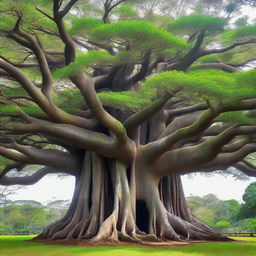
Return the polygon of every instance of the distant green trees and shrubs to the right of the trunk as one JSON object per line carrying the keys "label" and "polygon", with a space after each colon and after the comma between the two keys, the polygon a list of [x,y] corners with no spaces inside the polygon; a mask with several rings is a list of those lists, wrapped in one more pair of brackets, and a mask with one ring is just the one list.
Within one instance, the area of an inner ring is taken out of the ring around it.
{"label": "distant green trees and shrubs to the right of the trunk", "polygon": [[217,232],[256,232],[256,182],[245,189],[243,201],[220,200],[214,194],[187,197],[192,214]]}

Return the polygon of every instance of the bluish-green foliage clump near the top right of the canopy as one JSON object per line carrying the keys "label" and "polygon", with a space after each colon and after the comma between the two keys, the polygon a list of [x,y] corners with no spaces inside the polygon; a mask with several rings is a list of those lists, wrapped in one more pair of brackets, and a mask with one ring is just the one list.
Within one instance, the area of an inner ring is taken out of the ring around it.
{"label": "bluish-green foliage clump near the top right of the canopy", "polygon": [[226,25],[223,18],[191,14],[182,16],[168,24],[168,30],[176,33],[195,33],[199,31],[217,32],[222,31]]}

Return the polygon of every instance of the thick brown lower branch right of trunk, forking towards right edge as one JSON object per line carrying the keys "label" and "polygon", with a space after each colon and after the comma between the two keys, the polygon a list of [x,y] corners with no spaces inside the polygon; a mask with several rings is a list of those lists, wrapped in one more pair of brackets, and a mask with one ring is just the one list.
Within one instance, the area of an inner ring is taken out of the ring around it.
{"label": "thick brown lower branch right of trunk, forking towards right edge", "polygon": [[[254,144],[248,144],[248,146],[243,147],[235,153],[222,153],[219,158],[218,154],[221,153],[223,146],[229,143],[235,136],[250,135],[254,134],[255,131],[256,126],[230,127],[199,145],[169,151],[158,159],[159,168],[157,175],[167,176],[170,173],[186,172],[194,168],[201,169],[202,166],[208,166],[210,161],[216,161],[215,163],[217,164],[217,160],[222,161],[224,158],[223,163],[225,161],[240,161],[246,155],[256,150]],[[217,158],[214,159],[216,156]],[[180,159],[184,160],[180,161]],[[210,168],[210,165],[208,167]]]}

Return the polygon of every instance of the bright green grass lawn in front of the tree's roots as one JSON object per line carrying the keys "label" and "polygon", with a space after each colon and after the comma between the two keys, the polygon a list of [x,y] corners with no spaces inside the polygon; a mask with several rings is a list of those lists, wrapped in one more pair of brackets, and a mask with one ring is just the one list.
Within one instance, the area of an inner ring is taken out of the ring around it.
{"label": "bright green grass lawn in front of the tree's roots", "polygon": [[57,246],[26,241],[32,237],[0,236],[0,256],[256,256],[256,237],[165,248]]}

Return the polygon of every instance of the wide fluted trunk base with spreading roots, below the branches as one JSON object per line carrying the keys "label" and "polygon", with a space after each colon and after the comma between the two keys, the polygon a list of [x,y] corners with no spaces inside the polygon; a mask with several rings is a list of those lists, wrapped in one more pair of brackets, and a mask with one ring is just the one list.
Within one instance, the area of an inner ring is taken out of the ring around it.
{"label": "wide fluted trunk base with spreading roots, below the branches", "polygon": [[[145,192],[144,210],[148,215],[145,230],[139,229],[139,220],[136,223],[136,182]],[[134,166],[127,167],[118,160],[107,161],[87,152],[66,215],[35,239],[144,244],[173,240],[229,240],[215,234],[190,214],[179,175],[165,177],[159,184],[144,174],[143,179],[136,182]]]}

